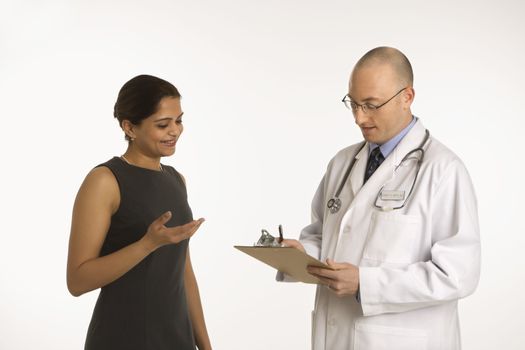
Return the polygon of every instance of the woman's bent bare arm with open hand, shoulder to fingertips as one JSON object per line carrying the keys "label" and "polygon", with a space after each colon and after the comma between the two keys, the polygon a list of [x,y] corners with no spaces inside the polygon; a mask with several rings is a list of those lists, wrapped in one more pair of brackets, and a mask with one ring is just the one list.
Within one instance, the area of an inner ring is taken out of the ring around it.
{"label": "woman's bent bare arm with open hand, shoulder to fingertips", "polygon": [[74,296],[103,287],[131,270],[158,247],[192,236],[202,219],[167,228],[167,212],[153,221],[139,241],[100,257],[111,216],[120,204],[118,183],[106,167],[92,170],[80,187],[71,223],[67,286]]}

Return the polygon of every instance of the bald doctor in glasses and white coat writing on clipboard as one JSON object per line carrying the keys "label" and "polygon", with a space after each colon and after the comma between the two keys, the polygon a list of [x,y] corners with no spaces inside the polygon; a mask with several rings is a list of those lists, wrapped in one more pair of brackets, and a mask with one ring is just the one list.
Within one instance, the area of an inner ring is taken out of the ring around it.
{"label": "bald doctor in glasses and white coat writing on clipboard", "polygon": [[312,223],[284,240],[330,266],[309,267],[315,350],[461,347],[458,299],[480,273],[476,198],[461,160],[412,115],[414,96],[397,49],[357,62],[343,102],[366,142],[330,161]]}

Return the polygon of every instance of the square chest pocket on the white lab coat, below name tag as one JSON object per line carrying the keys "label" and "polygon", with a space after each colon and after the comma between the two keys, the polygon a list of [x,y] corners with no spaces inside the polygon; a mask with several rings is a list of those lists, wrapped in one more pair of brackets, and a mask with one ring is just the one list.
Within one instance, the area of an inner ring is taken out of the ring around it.
{"label": "square chest pocket on the white lab coat, below name tag", "polygon": [[416,257],[414,246],[421,233],[421,218],[395,211],[374,211],[368,228],[363,259],[407,264]]}

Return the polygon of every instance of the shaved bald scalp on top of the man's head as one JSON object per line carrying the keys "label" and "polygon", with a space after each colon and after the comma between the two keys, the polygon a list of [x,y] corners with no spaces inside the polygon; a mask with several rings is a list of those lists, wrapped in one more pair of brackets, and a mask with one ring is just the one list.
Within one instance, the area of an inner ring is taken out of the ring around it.
{"label": "shaved bald scalp on top of the man's head", "polygon": [[410,61],[401,51],[393,47],[381,46],[368,51],[357,61],[354,72],[361,68],[385,64],[392,68],[402,86],[413,86],[414,73]]}

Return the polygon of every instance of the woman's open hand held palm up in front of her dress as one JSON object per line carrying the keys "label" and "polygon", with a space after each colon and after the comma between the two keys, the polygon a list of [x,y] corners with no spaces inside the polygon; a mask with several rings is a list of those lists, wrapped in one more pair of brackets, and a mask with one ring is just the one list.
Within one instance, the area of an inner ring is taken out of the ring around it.
{"label": "woman's open hand held palm up in front of her dress", "polygon": [[171,219],[171,212],[167,211],[153,221],[148,231],[142,237],[141,241],[146,245],[148,250],[154,251],[167,244],[179,243],[187,238],[193,236],[204,222],[204,218],[193,220],[187,224],[166,227],[164,224]]}

